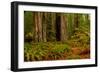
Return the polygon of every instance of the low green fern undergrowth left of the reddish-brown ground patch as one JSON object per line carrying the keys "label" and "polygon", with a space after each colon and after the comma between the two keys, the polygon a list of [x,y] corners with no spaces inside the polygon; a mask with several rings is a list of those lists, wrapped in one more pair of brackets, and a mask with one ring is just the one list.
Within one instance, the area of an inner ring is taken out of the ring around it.
{"label": "low green fern undergrowth left of the reddish-brown ground patch", "polygon": [[67,44],[61,44],[57,42],[48,43],[25,43],[24,46],[24,59],[25,61],[40,61],[60,59],[63,53],[70,51],[70,47]]}

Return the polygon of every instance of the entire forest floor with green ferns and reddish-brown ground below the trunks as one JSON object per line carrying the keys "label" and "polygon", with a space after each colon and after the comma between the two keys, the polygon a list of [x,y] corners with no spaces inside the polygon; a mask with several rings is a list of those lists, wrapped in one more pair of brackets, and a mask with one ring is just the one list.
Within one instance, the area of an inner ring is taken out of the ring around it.
{"label": "entire forest floor with green ferns and reddish-brown ground below the trunks", "polygon": [[89,59],[90,49],[69,47],[66,43],[26,43],[24,61]]}

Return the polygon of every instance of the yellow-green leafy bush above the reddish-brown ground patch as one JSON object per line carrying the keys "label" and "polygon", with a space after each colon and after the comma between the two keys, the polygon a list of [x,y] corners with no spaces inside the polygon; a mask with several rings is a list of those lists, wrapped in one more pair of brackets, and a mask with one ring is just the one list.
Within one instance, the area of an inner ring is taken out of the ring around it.
{"label": "yellow-green leafy bush above the reddish-brown ground patch", "polygon": [[81,29],[76,29],[76,33],[71,36],[69,43],[72,47],[82,47],[82,48],[90,48],[90,35],[89,33],[85,33]]}

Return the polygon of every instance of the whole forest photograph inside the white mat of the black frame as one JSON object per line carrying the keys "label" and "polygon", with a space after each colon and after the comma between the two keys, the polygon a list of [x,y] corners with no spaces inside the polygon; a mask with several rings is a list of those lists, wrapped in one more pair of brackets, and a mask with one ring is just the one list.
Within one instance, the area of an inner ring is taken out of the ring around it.
{"label": "whole forest photograph inside the white mat of the black frame", "polygon": [[90,15],[24,11],[24,61],[90,58]]}

